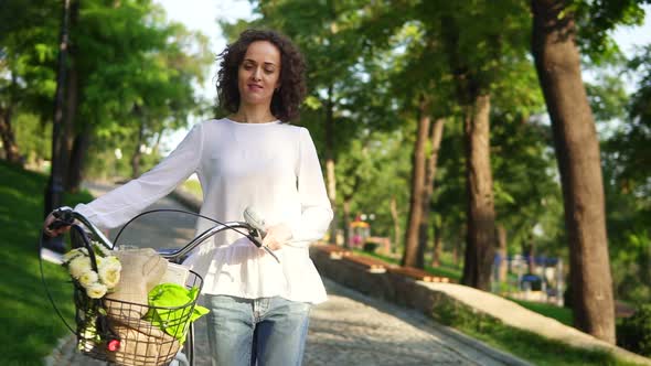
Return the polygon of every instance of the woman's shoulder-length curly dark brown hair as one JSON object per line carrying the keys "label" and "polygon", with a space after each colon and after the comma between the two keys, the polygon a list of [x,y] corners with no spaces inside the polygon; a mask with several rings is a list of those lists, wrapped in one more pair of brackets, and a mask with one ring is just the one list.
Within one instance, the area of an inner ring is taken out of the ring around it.
{"label": "woman's shoulder-length curly dark brown hair", "polygon": [[280,87],[271,97],[271,114],[288,122],[299,115],[299,107],[306,96],[303,56],[285,35],[271,30],[249,29],[218,55],[217,95],[220,106],[230,112],[239,108],[237,69],[244,60],[248,45],[256,41],[268,41],[280,51]]}

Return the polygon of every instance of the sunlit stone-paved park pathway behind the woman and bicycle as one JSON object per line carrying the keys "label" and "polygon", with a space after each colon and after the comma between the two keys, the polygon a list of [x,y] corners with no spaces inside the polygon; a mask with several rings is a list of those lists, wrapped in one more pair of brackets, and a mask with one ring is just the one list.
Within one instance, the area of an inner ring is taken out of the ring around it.
{"label": "sunlit stone-paved park pathway behind the woman and bicycle", "polygon": [[[105,186],[89,184],[93,194]],[[150,208],[183,209],[174,200],[163,198]],[[153,216],[152,216],[153,217]],[[192,219],[143,222],[152,247],[169,247],[169,238],[192,235]],[[116,232],[110,233],[114,237]],[[136,243],[137,237],[127,238]],[[120,240],[121,241],[121,240]],[[179,239],[182,243],[183,239]],[[142,243],[139,240],[139,243]],[[458,332],[444,327],[417,311],[367,298],[324,279],[329,300],[312,308],[305,365],[524,365]],[[196,323],[198,366],[211,365],[207,357],[205,322]],[[105,365],[76,353],[74,337],[63,338],[46,358],[47,365]]]}

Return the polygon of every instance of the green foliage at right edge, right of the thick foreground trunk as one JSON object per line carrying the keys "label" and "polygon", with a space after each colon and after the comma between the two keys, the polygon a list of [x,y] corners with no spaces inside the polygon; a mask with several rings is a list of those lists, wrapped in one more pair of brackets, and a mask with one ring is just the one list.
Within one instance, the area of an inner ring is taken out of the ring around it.
{"label": "green foliage at right edge, right of the thick foreground trunk", "polygon": [[647,169],[651,164],[650,55],[647,46],[629,63],[630,72],[641,76],[637,92],[612,104],[619,105],[612,109],[619,110],[620,122],[601,142],[615,292],[638,304],[651,301],[651,175]]}

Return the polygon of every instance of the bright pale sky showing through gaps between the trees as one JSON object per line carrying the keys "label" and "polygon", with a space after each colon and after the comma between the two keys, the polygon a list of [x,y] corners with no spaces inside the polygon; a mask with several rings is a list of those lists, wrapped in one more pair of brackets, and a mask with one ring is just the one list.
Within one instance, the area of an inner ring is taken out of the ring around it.
{"label": "bright pale sky showing through gaps between the trees", "polygon": [[[154,0],[160,3],[168,19],[180,22],[190,30],[201,31],[210,37],[211,50],[215,56],[226,46],[226,40],[222,35],[217,20],[235,22],[238,19],[252,19],[252,6],[248,0]],[[641,26],[618,28],[612,36],[625,54],[630,55],[636,46],[651,43],[651,6],[644,6],[647,19]],[[216,63],[213,64],[210,76],[204,85],[199,87],[198,93],[209,100],[215,100],[216,90],[214,76],[216,75]],[[584,75],[585,79],[593,76]],[[193,121],[196,122],[196,121]],[[177,146],[185,136],[186,130],[179,130],[170,136],[163,144],[169,150]]]}

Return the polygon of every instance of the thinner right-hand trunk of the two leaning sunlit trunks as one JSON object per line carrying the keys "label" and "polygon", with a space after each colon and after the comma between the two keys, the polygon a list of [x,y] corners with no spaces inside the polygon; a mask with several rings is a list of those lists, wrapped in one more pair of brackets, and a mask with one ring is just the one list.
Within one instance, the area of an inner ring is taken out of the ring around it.
{"label": "thinner right-hand trunk of the two leaning sunlit trunks", "polygon": [[436,177],[436,166],[438,161],[438,152],[440,150],[440,141],[444,136],[445,119],[438,118],[431,127],[429,136],[429,157],[425,168],[425,187],[423,192],[423,215],[420,216],[420,225],[418,228],[418,262],[425,263],[425,249],[427,248],[427,232],[429,228],[429,212],[431,204],[431,194],[434,193],[434,180]]}

